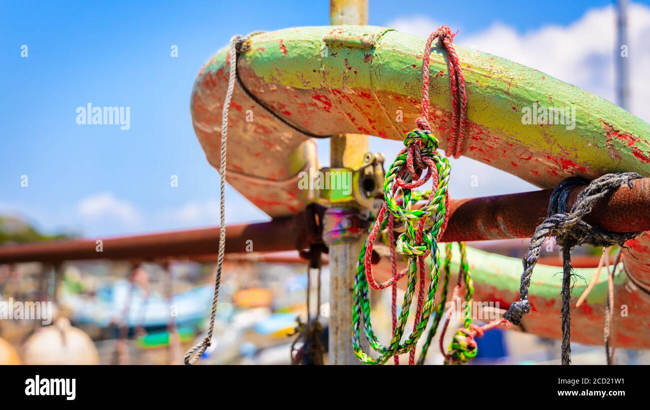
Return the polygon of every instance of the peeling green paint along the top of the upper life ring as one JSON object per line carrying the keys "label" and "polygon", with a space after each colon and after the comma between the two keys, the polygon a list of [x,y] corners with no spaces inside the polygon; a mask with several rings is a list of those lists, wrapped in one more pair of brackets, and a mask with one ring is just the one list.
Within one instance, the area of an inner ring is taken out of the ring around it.
{"label": "peeling green paint along the top of the upper life ring", "polygon": [[[240,64],[277,86],[386,91],[417,103],[424,43],[424,38],[385,27],[299,27],[255,36]],[[469,120],[515,148],[546,152],[545,158],[535,158],[534,169],[593,176],[636,171],[650,176],[650,125],[638,117],[535,69],[461,45],[456,51],[465,73]],[[220,51],[206,68],[219,69],[225,56],[225,50]],[[438,47],[430,70],[432,105],[450,110],[446,56]],[[575,129],[523,124],[521,110],[533,104],[575,108]],[[521,168],[506,171],[541,187],[556,184],[557,178],[523,175]]]}

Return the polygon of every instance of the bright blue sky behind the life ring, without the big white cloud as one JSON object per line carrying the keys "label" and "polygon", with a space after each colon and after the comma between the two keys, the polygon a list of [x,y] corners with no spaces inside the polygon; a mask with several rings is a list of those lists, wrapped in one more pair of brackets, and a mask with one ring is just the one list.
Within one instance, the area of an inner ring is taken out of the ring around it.
{"label": "bright blue sky behind the life ring, without the big white cloud", "polygon": [[[205,160],[189,113],[198,70],[233,34],[327,25],[328,3],[0,2],[0,213],[21,215],[47,232],[88,236],[216,224],[218,173]],[[460,30],[459,42],[503,25],[526,38],[545,27],[569,27],[611,3],[370,0],[370,24],[444,23]],[[21,45],[28,47],[27,58]],[[177,58],[170,56],[172,45]],[[131,107],[131,127],[77,125],[75,110],[87,102]],[[390,144],[376,146],[395,152],[398,144]],[[478,172],[471,171],[477,163],[460,163],[465,171],[458,178]],[[22,175],[27,187],[21,187]],[[171,175],[178,176],[178,187],[170,187]],[[498,175],[495,180],[500,184],[473,195],[530,187]],[[233,189],[227,193],[229,221],[265,219]]]}

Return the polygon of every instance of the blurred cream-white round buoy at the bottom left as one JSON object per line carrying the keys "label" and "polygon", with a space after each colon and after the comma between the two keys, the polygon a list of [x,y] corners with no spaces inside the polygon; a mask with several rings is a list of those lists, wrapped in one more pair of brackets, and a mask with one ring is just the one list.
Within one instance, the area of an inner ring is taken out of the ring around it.
{"label": "blurred cream-white round buoy at the bottom left", "polygon": [[98,365],[99,353],[83,330],[61,317],[39,328],[23,345],[26,365]]}

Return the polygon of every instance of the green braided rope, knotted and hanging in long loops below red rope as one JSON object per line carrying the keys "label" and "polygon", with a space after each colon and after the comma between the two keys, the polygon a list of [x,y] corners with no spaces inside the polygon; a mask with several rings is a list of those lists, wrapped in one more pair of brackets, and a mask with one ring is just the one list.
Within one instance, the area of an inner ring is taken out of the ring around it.
{"label": "green braided rope, knotted and hanging in long loops below red rope", "polygon": [[[404,234],[398,238],[396,250],[401,254],[409,256],[409,267],[407,274],[406,294],[404,295],[404,302],[402,302],[402,310],[397,319],[397,325],[393,338],[389,346],[381,344],[374,332],[372,331],[372,324],[370,322],[370,302],[368,298],[368,282],[366,279],[364,256],[367,249],[367,243],[361,248],[359,259],[357,261],[356,276],[354,281],[354,309],[352,311],[352,344],[354,352],[363,363],[380,365],[385,363],[388,359],[396,354],[404,354],[409,352],[420,336],[424,332],[428,319],[434,306],[435,292],[437,291],[438,278],[439,278],[439,257],[437,249],[437,236],[440,233],[440,228],[445,219],[447,206],[445,198],[447,196],[447,187],[450,174],[450,167],[447,158],[441,156],[437,149],[437,139],[430,135],[429,132],[422,132],[421,130],[414,130],[406,134],[404,145],[409,147],[415,141],[422,141],[421,154],[432,158],[434,165],[437,169],[437,188],[432,199],[422,207],[420,210],[411,210],[411,204],[414,203],[411,189],[399,188],[395,186],[396,177],[398,173],[406,165],[408,152],[402,151],[389,168],[385,182],[383,185],[384,199],[387,208],[393,215],[404,221]],[[407,175],[407,182],[411,180]],[[397,191],[402,191],[404,199],[404,208],[398,205],[396,195]],[[419,194],[415,197],[420,197]],[[423,244],[413,245],[416,236],[416,228],[413,226],[417,221],[422,218],[432,217],[434,219],[431,230],[424,230],[422,233]],[[383,224],[382,224],[383,228]],[[370,227],[372,230],[372,226]],[[417,257],[430,252],[430,266],[429,266],[429,285],[426,299],[422,305],[420,321],[415,327],[413,332],[400,343],[404,336],[404,329],[408,320],[409,308],[415,294],[415,285],[417,283]],[[380,354],[380,357],[373,359],[361,348],[361,319],[363,318],[363,328],[365,337],[368,339],[370,347]]]}

